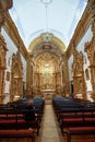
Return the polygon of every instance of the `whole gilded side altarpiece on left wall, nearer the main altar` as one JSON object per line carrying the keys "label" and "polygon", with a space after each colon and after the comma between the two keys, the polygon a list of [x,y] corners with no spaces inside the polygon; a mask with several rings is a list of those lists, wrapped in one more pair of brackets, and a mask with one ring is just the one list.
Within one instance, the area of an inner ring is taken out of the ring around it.
{"label": "whole gilded side altarpiece on left wall, nearer the main altar", "polygon": [[20,50],[12,56],[10,94],[11,99],[23,96],[23,66]]}

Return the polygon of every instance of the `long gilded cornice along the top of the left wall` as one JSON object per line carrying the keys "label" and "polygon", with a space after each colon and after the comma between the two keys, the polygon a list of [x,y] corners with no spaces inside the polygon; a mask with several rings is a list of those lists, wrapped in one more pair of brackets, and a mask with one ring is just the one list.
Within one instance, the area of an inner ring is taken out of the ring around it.
{"label": "long gilded cornice along the top of the left wall", "polygon": [[19,34],[19,31],[17,31],[14,22],[12,21],[10,14],[5,19],[4,27],[5,27],[7,33],[11,37],[11,39],[14,42],[14,44],[16,45],[16,47],[20,48],[20,51],[22,52],[22,55],[26,59],[26,57],[27,57],[26,47],[25,47],[25,45],[24,45],[24,43],[23,43],[20,34]]}

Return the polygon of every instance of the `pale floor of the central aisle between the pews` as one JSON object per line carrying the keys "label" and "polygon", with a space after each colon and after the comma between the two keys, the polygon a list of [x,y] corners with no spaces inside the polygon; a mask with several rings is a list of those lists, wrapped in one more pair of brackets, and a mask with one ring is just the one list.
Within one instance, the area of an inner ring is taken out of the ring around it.
{"label": "pale floor of the central aisle between the pews", "polygon": [[41,142],[60,142],[51,105],[45,105]]}

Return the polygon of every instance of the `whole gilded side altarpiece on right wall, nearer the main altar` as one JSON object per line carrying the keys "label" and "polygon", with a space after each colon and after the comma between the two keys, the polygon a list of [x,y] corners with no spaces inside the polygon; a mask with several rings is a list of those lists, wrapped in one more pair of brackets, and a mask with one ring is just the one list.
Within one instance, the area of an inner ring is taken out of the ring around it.
{"label": "whole gilded side altarpiece on right wall, nearer the main altar", "polygon": [[73,64],[72,64],[72,71],[73,71],[73,95],[74,97],[78,96],[78,94],[81,94],[82,97],[85,99],[85,80],[84,80],[84,71],[83,71],[83,54],[80,51],[76,51],[74,49],[73,51]]}

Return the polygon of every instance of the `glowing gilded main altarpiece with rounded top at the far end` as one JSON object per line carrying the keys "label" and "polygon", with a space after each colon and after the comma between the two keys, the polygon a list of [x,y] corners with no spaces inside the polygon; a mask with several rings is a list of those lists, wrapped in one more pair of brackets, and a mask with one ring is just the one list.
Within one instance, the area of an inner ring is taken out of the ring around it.
{"label": "glowing gilded main altarpiece with rounded top at the far end", "polygon": [[54,91],[58,93],[61,90],[61,73],[59,70],[57,57],[50,52],[41,54],[35,61],[35,91]]}

